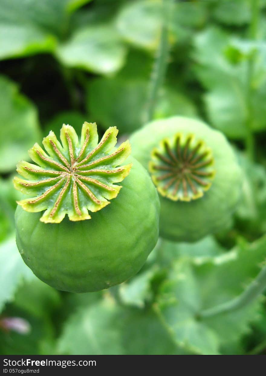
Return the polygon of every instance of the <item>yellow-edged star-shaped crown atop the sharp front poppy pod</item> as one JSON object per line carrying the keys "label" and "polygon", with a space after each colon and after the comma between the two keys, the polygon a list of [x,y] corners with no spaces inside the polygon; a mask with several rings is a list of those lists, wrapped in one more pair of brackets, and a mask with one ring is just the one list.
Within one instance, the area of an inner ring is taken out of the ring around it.
{"label": "yellow-edged star-shaped crown atop the sharp front poppy pod", "polygon": [[[115,148],[118,130],[110,127],[98,143],[97,125],[85,122],[79,140],[70,125],[63,124],[61,143],[54,132],[42,141],[46,152],[35,144],[29,150],[35,164],[21,161],[20,177],[14,178],[17,190],[33,198],[18,201],[29,212],[44,211],[45,223],[59,223],[66,214],[71,221],[90,219],[88,210],[96,212],[115,198],[131,164],[121,166],[130,154],[129,141]],[[119,167],[117,167],[119,166]]]}

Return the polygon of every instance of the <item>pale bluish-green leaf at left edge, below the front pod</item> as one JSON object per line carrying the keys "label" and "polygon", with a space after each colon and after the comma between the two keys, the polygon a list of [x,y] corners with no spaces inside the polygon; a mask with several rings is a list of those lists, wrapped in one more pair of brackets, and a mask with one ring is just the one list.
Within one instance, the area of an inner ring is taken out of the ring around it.
{"label": "pale bluish-green leaf at left edge, below the front pod", "polygon": [[31,280],[34,276],[30,268],[24,264],[18,252],[15,236],[0,244],[0,311],[6,302],[14,299],[14,293],[23,278]]}

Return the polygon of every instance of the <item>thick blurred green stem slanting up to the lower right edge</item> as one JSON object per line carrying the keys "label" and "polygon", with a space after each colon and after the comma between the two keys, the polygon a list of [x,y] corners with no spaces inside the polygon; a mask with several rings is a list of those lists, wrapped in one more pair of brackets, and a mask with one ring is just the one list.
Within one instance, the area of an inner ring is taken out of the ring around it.
{"label": "thick blurred green stem slanting up to the lower right edge", "polygon": [[246,288],[246,290],[240,296],[216,307],[206,309],[205,311],[200,313],[200,318],[212,317],[243,308],[257,299],[257,297],[260,296],[260,294],[262,294],[265,290],[266,266],[263,267],[258,276],[251,282],[248,288]]}

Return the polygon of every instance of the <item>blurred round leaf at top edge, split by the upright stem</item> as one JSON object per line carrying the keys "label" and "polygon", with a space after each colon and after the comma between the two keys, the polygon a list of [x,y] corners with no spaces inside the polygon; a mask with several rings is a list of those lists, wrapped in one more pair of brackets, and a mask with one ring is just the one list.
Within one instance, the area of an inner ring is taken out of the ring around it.
{"label": "blurred round leaf at top edge, split by the upright stem", "polygon": [[[166,2],[167,3],[167,2]],[[203,27],[207,20],[207,7],[200,3],[169,1],[169,42],[182,43],[193,35],[193,29]],[[122,38],[129,44],[148,51],[159,45],[162,28],[163,2],[144,0],[126,4],[116,18]]]}

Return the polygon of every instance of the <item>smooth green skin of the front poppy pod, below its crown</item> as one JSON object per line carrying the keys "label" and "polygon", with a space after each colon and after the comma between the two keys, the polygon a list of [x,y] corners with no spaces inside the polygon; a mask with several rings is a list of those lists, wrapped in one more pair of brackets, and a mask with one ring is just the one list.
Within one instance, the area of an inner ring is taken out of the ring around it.
{"label": "smooth green skin of the front poppy pod, below its crown", "polygon": [[160,203],[147,171],[135,159],[118,196],[90,220],[42,223],[42,212],[15,213],[17,246],[33,273],[58,290],[103,290],[136,274],[159,234]]}

